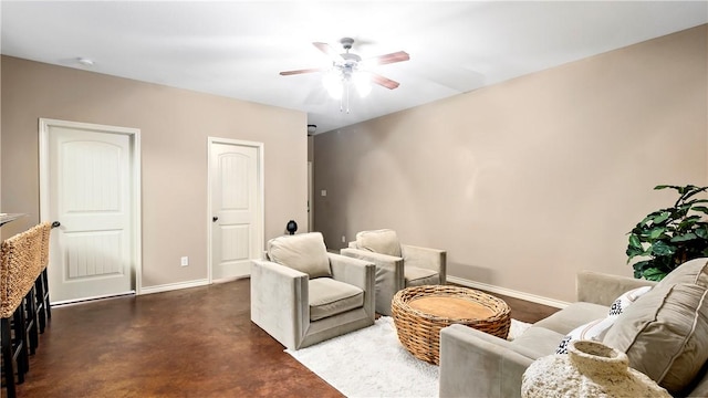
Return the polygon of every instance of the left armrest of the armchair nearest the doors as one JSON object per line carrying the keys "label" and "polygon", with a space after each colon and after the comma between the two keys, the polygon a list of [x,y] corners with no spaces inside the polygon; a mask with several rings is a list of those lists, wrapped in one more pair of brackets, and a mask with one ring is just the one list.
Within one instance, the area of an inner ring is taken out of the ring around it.
{"label": "left armrest of the armchair nearest the doors", "polygon": [[309,276],[266,260],[251,261],[251,321],[288,348],[310,322]]}

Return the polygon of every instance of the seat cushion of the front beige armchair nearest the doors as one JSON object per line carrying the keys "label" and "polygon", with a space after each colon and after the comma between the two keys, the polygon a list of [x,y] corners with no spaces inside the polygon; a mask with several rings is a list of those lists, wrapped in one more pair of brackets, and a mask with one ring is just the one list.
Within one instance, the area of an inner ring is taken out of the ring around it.
{"label": "seat cushion of the front beige armchair nearest the doors", "polygon": [[308,283],[310,321],[337,315],[364,305],[364,291],[331,277],[316,277]]}

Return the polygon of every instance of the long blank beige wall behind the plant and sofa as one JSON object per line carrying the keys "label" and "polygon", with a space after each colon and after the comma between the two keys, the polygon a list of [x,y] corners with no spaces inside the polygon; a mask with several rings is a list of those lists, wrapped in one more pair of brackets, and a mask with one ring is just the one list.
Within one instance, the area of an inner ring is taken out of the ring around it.
{"label": "long blank beige wall behind the plant and sofa", "polygon": [[450,275],[560,301],[577,270],[631,275],[625,233],[675,200],[653,187],[708,182],[707,35],[316,135],[315,228],[330,248],[393,228],[446,249]]}

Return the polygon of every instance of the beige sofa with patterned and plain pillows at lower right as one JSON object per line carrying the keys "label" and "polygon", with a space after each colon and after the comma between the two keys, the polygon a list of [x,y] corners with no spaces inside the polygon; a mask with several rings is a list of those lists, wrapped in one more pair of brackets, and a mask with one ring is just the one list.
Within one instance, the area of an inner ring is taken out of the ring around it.
{"label": "beige sofa with patterned and plain pillows at lower right", "polygon": [[519,397],[521,376],[534,359],[555,354],[580,326],[607,317],[617,297],[647,285],[653,287],[594,339],[626,353],[632,367],[674,396],[708,397],[708,259],[686,262],[658,284],[580,272],[577,302],[512,342],[461,325],[444,328],[440,397]]}

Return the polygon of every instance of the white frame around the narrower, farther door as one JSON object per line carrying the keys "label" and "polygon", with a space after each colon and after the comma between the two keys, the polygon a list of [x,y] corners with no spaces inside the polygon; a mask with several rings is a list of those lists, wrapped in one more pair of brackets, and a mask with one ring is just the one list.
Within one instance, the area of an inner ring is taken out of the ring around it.
{"label": "white frame around the narrower, farther door", "polygon": [[230,139],[230,138],[219,138],[219,137],[207,137],[207,264],[209,264],[208,271],[208,280],[209,284],[214,283],[212,279],[212,256],[211,256],[211,247],[212,247],[212,237],[211,237],[211,226],[214,221],[211,217],[214,216],[214,209],[211,208],[211,145],[212,144],[225,144],[225,145],[236,145],[242,147],[253,147],[258,151],[258,223],[260,224],[260,231],[256,234],[258,239],[258,247],[263,250],[264,241],[266,241],[266,172],[264,172],[264,154],[263,154],[263,143],[258,142],[249,142],[241,139]]}

